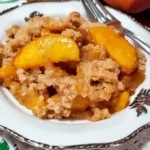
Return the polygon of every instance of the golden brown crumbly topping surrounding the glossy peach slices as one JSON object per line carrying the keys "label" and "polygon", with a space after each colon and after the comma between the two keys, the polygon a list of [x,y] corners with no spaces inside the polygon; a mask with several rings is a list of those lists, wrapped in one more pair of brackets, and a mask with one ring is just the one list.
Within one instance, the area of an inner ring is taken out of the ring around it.
{"label": "golden brown crumbly topping surrounding the glossy peach slices", "polygon": [[[95,45],[90,39],[88,30],[95,26],[106,25],[87,21],[78,12],[72,12],[67,18],[61,19],[34,17],[22,27],[13,25],[6,30],[6,45],[0,44],[1,65],[12,64],[23,46],[51,33],[71,37],[80,48],[81,61],[50,63],[29,70],[20,68],[17,69],[18,78],[4,80],[3,86],[9,87],[23,105],[24,101],[20,97],[25,97],[30,92],[38,93],[39,100],[44,101],[45,105],[34,107],[32,111],[39,118],[82,118],[92,121],[110,118],[109,107],[104,104],[111,104],[112,97],[119,95],[125,86],[120,81],[120,66],[108,57],[103,45]],[[137,50],[137,57],[136,69],[145,72],[144,54]],[[70,70],[74,72],[70,73]],[[77,97],[83,101],[87,99],[86,109],[72,109]]]}

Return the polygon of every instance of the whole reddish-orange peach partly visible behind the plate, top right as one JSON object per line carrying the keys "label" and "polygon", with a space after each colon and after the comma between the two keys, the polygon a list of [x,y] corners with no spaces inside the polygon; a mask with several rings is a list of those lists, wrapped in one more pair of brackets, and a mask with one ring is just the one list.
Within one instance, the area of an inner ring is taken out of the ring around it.
{"label": "whole reddish-orange peach partly visible behind the plate, top right", "polygon": [[108,5],[128,13],[141,12],[150,8],[150,0],[104,0]]}

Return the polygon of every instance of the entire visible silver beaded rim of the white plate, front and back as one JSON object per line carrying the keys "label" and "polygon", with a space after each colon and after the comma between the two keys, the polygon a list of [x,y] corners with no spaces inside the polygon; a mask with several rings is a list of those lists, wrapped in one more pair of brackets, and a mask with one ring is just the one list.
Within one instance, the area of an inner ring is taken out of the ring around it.
{"label": "entire visible silver beaded rim of the white plate, front and back", "polygon": [[[58,2],[58,1],[54,1],[54,2]],[[40,2],[23,2],[21,4],[18,4],[14,7],[8,8],[6,10],[3,10],[0,12],[0,16],[2,16],[3,14],[10,12],[16,8],[19,8],[21,6],[24,6],[26,4],[31,4],[31,3],[40,3]],[[108,6],[109,7],[109,6]],[[120,11],[118,11],[120,12]],[[122,12],[121,12],[122,13]],[[127,15],[128,17],[130,17],[133,21],[137,22],[138,24],[141,25],[141,23],[139,23],[136,19],[134,19],[133,17]],[[150,31],[149,28],[147,26],[142,26],[143,28],[145,28],[147,31]],[[88,143],[88,144],[80,144],[80,145],[70,145],[70,146],[61,146],[61,145],[49,145],[49,144],[45,144],[45,143],[41,143],[41,142],[37,142],[37,141],[33,141],[31,139],[28,139],[24,136],[22,136],[21,134],[0,125],[0,130],[3,130],[5,132],[7,132],[8,134],[10,134],[11,136],[13,136],[14,138],[18,139],[19,141],[35,146],[37,148],[43,148],[43,149],[99,149],[99,148],[109,148],[109,147],[116,147],[120,144],[124,144],[125,142],[129,141],[130,139],[134,138],[135,136],[137,136],[140,132],[142,132],[145,129],[150,128],[150,122],[143,125],[142,127],[136,129],[134,132],[132,132],[131,134],[129,134],[128,136],[126,136],[125,138],[122,138],[120,140],[114,141],[114,142],[110,142],[110,143]]]}

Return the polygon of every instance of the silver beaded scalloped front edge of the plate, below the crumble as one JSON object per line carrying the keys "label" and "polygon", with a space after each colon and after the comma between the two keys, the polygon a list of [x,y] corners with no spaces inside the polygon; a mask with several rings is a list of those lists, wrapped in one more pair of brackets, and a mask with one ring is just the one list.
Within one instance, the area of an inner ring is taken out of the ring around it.
{"label": "silver beaded scalloped front edge of the plate, below the crumble", "polygon": [[27,143],[29,145],[38,147],[38,148],[44,148],[44,149],[95,149],[95,148],[108,148],[108,147],[115,147],[118,146],[120,144],[124,144],[125,142],[129,141],[130,139],[134,138],[135,136],[137,136],[140,132],[142,132],[145,129],[150,128],[150,122],[140,128],[138,128],[137,130],[135,130],[133,133],[131,133],[130,135],[128,135],[127,137],[118,140],[118,141],[114,141],[111,143],[89,143],[89,144],[83,144],[83,145],[71,145],[71,146],[56,146],[56,145],[49,145],[49,144],[45,144],[45,143],[40,143],[40,142],[36,142],[33,140],[30,140],[20,134],[18,134],[17,132],[1,126],[0,125],[0,129],[9,133],[11,136],[15,137],[16,139],[18,139],[19,141],[23,142],[23,143]]}

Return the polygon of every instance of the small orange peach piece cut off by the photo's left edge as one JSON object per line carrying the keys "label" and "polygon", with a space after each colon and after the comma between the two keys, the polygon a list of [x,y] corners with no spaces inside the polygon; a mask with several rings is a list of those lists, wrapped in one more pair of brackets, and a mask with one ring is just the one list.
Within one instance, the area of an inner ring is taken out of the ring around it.
{"label": "small orange peach piece cut off by the photo's left edge", "polygon": [[17,77],[16,69],[11,65],[4,65],[0,68],[0,79]]}

